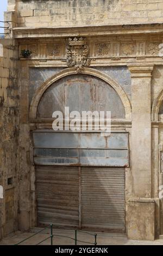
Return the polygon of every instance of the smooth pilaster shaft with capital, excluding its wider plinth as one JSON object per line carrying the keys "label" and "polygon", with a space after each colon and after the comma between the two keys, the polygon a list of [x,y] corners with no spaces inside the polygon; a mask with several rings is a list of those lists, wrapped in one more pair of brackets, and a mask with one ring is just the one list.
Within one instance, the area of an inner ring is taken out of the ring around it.
{"label": "smooth pilaster shaft with capital, excluding its wider plinth", "polygon": [[129,66],[132,87],[131,171],[133,197],[151,197],[151,72]]}

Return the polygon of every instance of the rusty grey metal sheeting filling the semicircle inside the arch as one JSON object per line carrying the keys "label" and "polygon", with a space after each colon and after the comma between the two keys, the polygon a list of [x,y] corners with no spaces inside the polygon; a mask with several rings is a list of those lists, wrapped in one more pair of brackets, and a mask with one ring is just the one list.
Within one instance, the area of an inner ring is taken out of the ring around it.
{"label": "rusty grey metal sheeting filling the semicircle inside the arch", "polygon": [[115,89],[98,77],[70,75],[53,83],[43,94],[37,118],[52,118],[54,111],[111,111],[112,119],[124,119],[125,109]]}

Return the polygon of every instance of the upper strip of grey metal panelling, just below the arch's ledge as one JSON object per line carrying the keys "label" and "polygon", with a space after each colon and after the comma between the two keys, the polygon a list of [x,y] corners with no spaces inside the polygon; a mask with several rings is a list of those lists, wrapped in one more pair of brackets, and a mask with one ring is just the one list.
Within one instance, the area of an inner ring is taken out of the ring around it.
{"label": "upper strip of grey metal panelling, just below the arch's ledge", "polygon": [[101,136],[101,132],[33,131],[36,148],[128,148],[128,132],[114,132]]}

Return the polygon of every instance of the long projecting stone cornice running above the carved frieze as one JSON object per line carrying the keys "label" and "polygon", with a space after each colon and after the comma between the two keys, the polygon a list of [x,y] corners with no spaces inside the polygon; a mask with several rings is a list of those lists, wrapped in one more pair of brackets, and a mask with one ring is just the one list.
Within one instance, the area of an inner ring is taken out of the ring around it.
{"label": "long projecting stone cornice running above the carved frieze", "polygon": [[67,36],[102,36],[163,33],[163,24],[105,25],[79,27],[15,27],[14,38],[60,38]]}

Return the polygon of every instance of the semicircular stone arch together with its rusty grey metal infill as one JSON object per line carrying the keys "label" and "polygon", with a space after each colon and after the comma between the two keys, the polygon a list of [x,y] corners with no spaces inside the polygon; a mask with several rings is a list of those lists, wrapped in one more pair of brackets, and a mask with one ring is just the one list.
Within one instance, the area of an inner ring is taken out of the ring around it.
{"label": "semicircular stone arch together with its rusty grey metal infill", "polygon": [[101,71],[85,68],[82,74],[66,69],[37,89],[30,119],[52,118],[54,111],[111,111],[112,119],[130,119],[131,107],[123,89]]}

